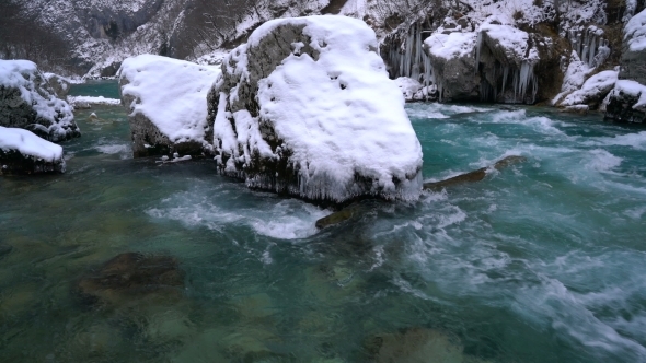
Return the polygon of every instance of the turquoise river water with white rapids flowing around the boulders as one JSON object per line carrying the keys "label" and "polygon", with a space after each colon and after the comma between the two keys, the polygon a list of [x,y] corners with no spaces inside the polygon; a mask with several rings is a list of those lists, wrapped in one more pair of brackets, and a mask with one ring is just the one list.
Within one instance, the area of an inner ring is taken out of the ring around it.
{"label": "turquoise river water with white rapids flowing around the boulders", "polygon": [[[79,112],[67,174],[0,179],[0,361],[646,361],[646,130],[407,110],[426,180],[528,161],[319,232],[330,211],[210,161],[132,160],[123,108]],[[176,257],[180,296],[80,303],[80,277],[126,251]]]}

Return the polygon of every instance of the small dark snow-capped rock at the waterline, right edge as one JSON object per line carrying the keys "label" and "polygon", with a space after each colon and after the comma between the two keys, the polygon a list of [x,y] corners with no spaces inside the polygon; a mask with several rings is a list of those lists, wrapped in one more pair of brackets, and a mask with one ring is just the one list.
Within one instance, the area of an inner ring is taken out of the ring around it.
{"label": "small dark snow-capped rock at the waterline, right edge", "polygon": [[605,106],[605,118],[646,122],[646,85],[632,80],[616,81]]}

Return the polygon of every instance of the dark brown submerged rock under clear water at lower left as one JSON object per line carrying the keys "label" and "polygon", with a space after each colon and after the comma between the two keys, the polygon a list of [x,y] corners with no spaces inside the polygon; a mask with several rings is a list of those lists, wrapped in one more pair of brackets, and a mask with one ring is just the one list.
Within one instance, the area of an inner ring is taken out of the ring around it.
{"label": "dark brown submerged rock under clear water at lower left", "polygon": [[184,286],[184,272],[170,256],[126,253],[82,277],[74,292],[88,305],[118,304],[151,295],[176,298]]}

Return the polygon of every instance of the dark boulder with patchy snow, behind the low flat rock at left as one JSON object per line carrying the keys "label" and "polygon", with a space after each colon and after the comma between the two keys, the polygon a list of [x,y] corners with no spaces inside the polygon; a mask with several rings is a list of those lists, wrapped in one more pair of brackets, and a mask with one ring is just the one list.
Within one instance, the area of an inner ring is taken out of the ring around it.
{"label": "dark boulder with patchy snow, behind the low flat rock at left", "polygon": [[28,60],[0,60],[0,126],[58,142],[81,136],[72,108]]}

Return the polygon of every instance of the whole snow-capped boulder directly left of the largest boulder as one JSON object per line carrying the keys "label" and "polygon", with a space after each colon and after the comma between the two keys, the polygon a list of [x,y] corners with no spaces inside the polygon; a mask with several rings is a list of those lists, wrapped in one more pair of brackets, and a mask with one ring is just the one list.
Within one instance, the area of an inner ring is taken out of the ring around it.
{"label": "whole snow-capped boulder directly left of the largest boulder", "polygon": [[142,55],[119,69],[122,104],[128,108],[135,157],[210,154],[212,119],[207,94],[220,70]]}

